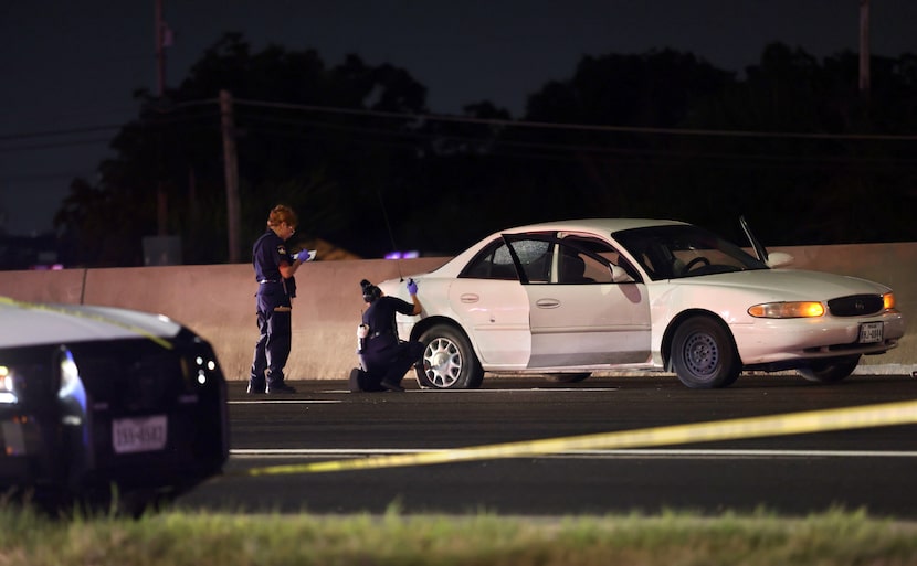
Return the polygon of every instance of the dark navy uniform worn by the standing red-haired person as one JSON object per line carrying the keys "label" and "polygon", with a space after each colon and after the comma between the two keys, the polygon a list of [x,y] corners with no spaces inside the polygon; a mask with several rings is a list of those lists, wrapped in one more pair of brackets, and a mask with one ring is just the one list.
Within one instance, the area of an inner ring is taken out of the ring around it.
{"label": "dark navy uniform worn by the standing red-haired person", "polygon": [[264,392],[265,385],[271,389],[283,384],[283,369],[289,357],[293,307],[289,287],[294,281],[284,280],[281,275],[282,258],[287,260],[286,244],[268,228],[252,248],[257,281],[257,328],[261,331],[249,380],[252,393]]}

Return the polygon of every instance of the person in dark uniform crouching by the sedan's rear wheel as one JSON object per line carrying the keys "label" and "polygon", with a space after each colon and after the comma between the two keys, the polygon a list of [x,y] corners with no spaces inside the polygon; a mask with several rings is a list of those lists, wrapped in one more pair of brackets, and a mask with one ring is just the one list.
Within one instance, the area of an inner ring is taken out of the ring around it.
{"label": "person in dark uniform crouching by the sedan's rear wheel", "polygon": [[369,308],[363,312],[362,324],[358,329],[362,369],[350,372],[350,391],[404,391],[401,380],[420,360],[423,344],[398,339],[394,314],[415,316],[423,311],[418,299],[418,285],[412,279],[408,280],[412,302],[387,297],[366,279],[360,281],[360,287]]}

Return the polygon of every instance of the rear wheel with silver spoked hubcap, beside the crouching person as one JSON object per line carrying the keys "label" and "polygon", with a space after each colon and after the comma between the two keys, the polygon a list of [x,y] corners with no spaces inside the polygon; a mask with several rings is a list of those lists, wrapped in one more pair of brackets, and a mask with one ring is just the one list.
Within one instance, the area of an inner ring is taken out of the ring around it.
{"label": "rear wheel with silver spoked hubcap, beside the crouching person", "polygon": [[423,356],[417,369],[421,387],[474,389],[484,380],[484,370],[462,331],[438,324],[420,337]]}

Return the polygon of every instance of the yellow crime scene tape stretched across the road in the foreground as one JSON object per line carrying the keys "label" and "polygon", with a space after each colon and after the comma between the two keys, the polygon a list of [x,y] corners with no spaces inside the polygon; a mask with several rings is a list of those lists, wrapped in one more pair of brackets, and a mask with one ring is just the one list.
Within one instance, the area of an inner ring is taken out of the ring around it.
{"label": "yellow crime scene tape stretched across the road in the foreground", "polygon": [[375,456],[370,458],[333,460],[305,464],[268,466],[253,468],[243,472],[243,476],[317,473],[429,466],[471,460],[544,456],[572,450],[613,450],[672,446],[712,442],[716,440],[759,438],[765,436],[789,436],[853,428],[908,425],[915,423],[917,423],[917,401],[909,401],[862,407],[788,413],[766,417],[672,425],[640,430],[621,430],[584,436],[485,445],[419,453]]}

